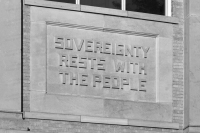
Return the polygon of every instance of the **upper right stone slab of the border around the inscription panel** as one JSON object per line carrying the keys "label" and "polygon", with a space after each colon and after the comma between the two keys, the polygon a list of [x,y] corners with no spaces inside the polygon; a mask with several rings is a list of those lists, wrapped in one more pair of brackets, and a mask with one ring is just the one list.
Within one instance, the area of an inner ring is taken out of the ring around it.
{"label": "upper right stone slab of the border around the inscription panel", "polygon": [[161,37],[172,38],[173,25],[155,21],[139,20],[105,16],[105,28],[129,30],[135,32],[157,34]]}

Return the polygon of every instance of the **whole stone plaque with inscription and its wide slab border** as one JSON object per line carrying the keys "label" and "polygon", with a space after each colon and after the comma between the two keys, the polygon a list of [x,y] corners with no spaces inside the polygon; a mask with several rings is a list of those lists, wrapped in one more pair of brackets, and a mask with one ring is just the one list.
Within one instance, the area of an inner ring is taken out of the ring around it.
{"label": "whole stone plaque with inscription and its wide slab border", "polygon": [[[31,7],[31,14],[30,111],[172,121],[171,24],[39,7]],[[97,44],[102,44],[100,50],[95,49]],[[125,46],[134,46],[133,57],[124,54]],[[128,65],[121,70],[114,60],[148,65],[128,73]],[[108,86],[109,78],[94,82],[89,77],[94,74],[112,75],[115,80]],[[125,84],[120,89],[117,76],[133,78],[132,90]],[[138,79],[147,79],[146,92]]]}

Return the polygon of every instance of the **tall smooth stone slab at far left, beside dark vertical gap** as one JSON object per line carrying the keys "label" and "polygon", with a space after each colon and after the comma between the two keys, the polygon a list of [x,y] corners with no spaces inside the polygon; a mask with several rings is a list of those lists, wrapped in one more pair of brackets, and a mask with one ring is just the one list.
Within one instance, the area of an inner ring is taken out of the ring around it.
{"label": "tall smooth stone slab at far left, beside dark vertical gap", "polygon": [[21,1],[0,1],[0,110],[21,109]]}

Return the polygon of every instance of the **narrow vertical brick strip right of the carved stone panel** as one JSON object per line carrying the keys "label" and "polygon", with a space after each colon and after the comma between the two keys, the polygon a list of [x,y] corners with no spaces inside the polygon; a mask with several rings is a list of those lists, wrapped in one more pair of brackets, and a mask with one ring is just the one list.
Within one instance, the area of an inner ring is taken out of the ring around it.
{"label": "narrow vertical brick strip right of the carved stone panel", "polygon": [[172,16],[179,18],[173,34],[173,122],[184,128],[184,2],[172,1]]}

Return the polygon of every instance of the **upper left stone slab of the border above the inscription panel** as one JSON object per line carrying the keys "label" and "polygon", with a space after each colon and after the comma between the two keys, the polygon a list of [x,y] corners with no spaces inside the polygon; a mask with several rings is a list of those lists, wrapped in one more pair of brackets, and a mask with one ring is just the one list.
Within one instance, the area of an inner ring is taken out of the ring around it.
{"label": "upper left stone slab of the border above the inscription panel", "polygon": [[31,21],[51,21],[69,24],[104,26],[104,16],[83,12],[31,7]]}

